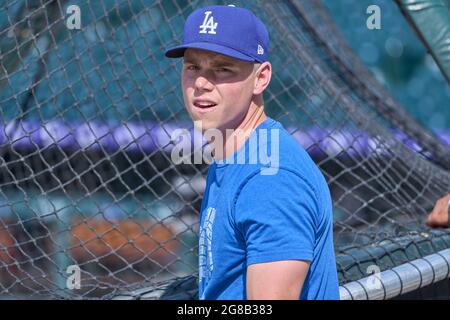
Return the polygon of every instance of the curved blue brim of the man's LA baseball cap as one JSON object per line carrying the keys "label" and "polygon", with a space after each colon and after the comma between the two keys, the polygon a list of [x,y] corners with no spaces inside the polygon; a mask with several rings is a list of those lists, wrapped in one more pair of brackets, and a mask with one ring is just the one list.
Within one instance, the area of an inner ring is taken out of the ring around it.
{"label": "curved blue brim of the man's LA baseball cap", "polygon": [[186,45],[176,46],[168,49],[166,51],[166,57],[168,58],[181,58],[184,56],[186,49],[201,49],[207,50],[214,53],[223,54],[231,58],[235,58],[242,61],[252,62],[257,61],[257,59],[243,54],[237,50],[231,49],[229,47],[221,46],[215,43],[209,42],[193,42]]}

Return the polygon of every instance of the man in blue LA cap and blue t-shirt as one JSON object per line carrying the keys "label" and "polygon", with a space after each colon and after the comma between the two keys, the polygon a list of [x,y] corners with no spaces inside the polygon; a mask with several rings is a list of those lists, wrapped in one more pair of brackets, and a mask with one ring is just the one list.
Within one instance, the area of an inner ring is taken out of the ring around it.
{"label": "man in blue LA cap and blue t-shirt", "polygon": [[184,57],[184,102],[214,157],[201,208],[199,297],[339,299],[326,181],[264,113],[268,51],[261,20],[234,6],[194,11],[183,44],[166,51]]}

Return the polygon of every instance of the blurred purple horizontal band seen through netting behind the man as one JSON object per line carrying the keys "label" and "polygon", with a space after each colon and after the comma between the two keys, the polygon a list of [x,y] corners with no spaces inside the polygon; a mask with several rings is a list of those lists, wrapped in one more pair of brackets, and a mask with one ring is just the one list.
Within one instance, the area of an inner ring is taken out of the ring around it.
{"label": "blurred purple horizontal band seen through netting behind the man", "polygon": [[[193,145],[200,146],[205,143],[197,132],[193,133],[191,123],[77,124],[63,121],[20,121],[0,125],[0,147],[12,146],[15,149],[27,150],[58,146],[68,151],[103,150],[108,153],[120,149],[125,152],[151,153],[159,149],[170,152],[177,143],[171,142],[176,129],[188,130]],[[377,139],[376,136],[369,136],[357,130],[323,130],[317,127],[306,130],[289,127],[287,130],[294,132],[293,137],[313,155],[325,152],[329,156],[335,156],[345,151],[352,156],[367,156],[373,152],[383,154],[390,147],[386,139]],[[404,141],[411,150],[421,151],[419,145],[403,132],[392,130],[392,133],[394,138]],[[450,146],[450,131],[440,132],[438,136]],[[383,144],[380,144],[380,141],[383,141]]]}

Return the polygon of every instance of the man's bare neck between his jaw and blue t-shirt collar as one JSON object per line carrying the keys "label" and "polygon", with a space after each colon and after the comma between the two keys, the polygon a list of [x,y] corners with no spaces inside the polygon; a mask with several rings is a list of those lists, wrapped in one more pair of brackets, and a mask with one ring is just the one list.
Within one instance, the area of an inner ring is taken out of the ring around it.
{"label": "man's bare neck between his jaw and blue t-shirt collar", "polygon": [[[264,106],[252,103],[241,124],[231,134],[224,135],[223,154],[214,154],[215,160],[223,160],[234,154],[247,141],[253,131],[267,119]],[[212,146],[215,149],[215,146]]]}

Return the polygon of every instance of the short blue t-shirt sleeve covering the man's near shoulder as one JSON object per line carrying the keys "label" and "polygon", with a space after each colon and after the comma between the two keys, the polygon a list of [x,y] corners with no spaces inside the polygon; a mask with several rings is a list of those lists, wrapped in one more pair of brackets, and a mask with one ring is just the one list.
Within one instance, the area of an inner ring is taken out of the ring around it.
{"label": "short blue t-shirt sleeve covering the man's near shoulder", "polygon": [[238,191],[234,218],[247,249],[247,265],[313,258],[319,204],[303,177],[280,169],[256,174]]}

